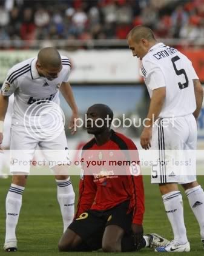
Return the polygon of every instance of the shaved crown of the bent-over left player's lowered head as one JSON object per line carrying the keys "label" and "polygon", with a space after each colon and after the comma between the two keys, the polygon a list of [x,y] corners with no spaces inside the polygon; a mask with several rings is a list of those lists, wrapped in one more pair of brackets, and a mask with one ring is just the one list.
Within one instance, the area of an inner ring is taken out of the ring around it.
{"label": "shaved crown of the bent-over left player's lowered head", "polygon": [[62,64],[58,50],[53,47],[41,49],[38,53],[38,62],[44,68],[52,67],[56,69],[61,67]]}

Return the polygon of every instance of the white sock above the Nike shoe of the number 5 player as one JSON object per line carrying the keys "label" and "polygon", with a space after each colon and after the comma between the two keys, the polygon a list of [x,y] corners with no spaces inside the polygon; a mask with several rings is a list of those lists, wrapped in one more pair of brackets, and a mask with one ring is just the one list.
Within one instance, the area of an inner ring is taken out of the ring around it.
{"label": "white sock above the Nike shoe of the number 5 player", "polygon": [[183,218],[183,200],[180,191],[169,192],[162,196],[166,214],[174,233],[174,241],[179,244],[188,242]]}

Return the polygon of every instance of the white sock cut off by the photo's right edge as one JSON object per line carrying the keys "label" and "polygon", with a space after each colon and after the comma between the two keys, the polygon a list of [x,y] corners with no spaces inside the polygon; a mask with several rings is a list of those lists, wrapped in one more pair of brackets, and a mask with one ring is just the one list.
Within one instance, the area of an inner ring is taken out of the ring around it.
{"label": "white sock cut off by the photo's right edge", "polygon": [[188,197],[189,204],[192,212],[196,216],[196,219],[200,226],[200,235],[204,239],[204,192],[202,187],[196,186],[192,189],[186,189],[185,193]]}

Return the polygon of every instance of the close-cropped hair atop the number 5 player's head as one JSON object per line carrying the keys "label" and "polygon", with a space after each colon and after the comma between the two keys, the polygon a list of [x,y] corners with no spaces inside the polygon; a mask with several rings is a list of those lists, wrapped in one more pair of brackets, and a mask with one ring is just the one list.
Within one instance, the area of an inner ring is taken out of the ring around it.
{"label": "close-cropped hair atop the number 5 player's head", "polygon": [[156,41],[153,31],[149,27],[145,27],[143,25],[138,25],[130,30],[127,38],[133,39],[134,42],[138,42],[140,39]]}

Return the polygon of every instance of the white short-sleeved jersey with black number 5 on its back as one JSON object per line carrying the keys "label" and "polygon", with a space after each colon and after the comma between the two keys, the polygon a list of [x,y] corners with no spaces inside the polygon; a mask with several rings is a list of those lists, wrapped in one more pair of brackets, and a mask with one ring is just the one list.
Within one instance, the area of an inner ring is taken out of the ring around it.
{"label": "white short-sleeved jersey with black number 5 on its back", "polygon": [[191,61],[177,49],[162,42],[151,47],[142,59],[143,76],[150,97],[153,90],[166,87],[160,118],[185,116],[196,110],[192,79],[198,79]]}

